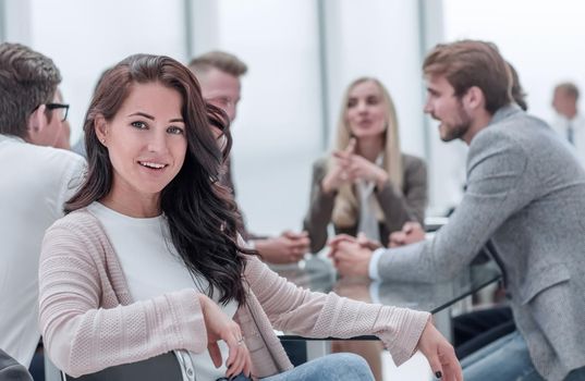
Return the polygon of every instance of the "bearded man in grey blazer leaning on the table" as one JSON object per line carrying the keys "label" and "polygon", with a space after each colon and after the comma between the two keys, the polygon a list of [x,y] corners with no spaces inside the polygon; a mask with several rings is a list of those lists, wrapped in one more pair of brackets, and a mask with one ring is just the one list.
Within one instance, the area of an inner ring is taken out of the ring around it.
{"label": "bearded man in grey blazer leaning on the table", "polygon": [[492,44],[437,46],[423,65],[425,112],[441,139],[470,146],[464,197],[432,239],[410,224],[405,245],[374,253],[350,237],[331,244],[342,274],[438,281],[488,244],[517,332],[462,362],[474,380],[585,380],[585,172],[566,143],[512,105],[509,72]]}

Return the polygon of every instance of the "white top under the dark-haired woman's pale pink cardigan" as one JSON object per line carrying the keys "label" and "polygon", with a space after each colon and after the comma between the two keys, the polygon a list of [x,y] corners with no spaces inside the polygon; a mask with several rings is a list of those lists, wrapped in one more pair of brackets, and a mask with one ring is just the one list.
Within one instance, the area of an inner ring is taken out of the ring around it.
{"label": "white top under the dark-haired woman's pale pink cardigan", "polygon": [[[106,206],[94,202],[87,208],[103,225],[126,278],[132,298],[148,300],[164,293],[195,288],[207,294],[208,282],[203,276],[191,275],[176,253],[170,238],[169,226],[163,216],[155,218],[132,218]],[[212,299],[218,303],[216,291]],[[233,318],[237,304],[219,305],[228,317]],[[193,334],[200,334],[193,332]],[[183,365],[184,380],[216,380],[226,376],[228,346],[220,341],[219,348],[223,364],[216,368],[209,352],[195,354],[176,351]],[[193,377],[195,374],[195,378]]]}

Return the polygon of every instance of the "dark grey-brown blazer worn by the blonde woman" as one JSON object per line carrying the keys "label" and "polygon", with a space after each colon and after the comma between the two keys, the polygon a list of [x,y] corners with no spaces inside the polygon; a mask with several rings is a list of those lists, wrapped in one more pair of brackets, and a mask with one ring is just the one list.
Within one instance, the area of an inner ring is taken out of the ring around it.
{"label": "dark grey-brown blazer worn by the blonde woman", "polygon": [[[402,189],[388,181],[383,188],[376,190],[376,198],[385,216],[380,223],[380,238],[388,244],[388,235],[402,229],[404,222],[424,223],[427,206],[427,168],[425,162],[414,156],[402,153],[404,181]],[[321,182],[327,173],[327,158],[321,158],[313,165],[309,209],[303,229],[310,238],[310,251],[319,251],[327,242],[327,226],[331,222],[336,194],[326,194]],[[336,234],[344,233],[355,236],[357,224],[350,228],[333,226]]]}

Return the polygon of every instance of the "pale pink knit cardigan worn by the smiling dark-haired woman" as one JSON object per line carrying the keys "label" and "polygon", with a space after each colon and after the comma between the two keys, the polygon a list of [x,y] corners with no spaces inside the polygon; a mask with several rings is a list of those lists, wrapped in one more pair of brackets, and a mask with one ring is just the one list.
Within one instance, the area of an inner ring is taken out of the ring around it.
{"label": "pale pink knit cardigan worn by the smiling dark-haired woman", "polygon": [[[375,334],[400,365],[413,355],[429,319],[427,312],[300,288],[252,256],[243,281],[247,302],[234,320],[249,349],[254,378],[292,368],[272,328],[309,337]],[[102,226],[85,209],[47,231],[39,287],[46,351],[73,377],[173,349],[207,351],[197,291],[180,290],[134,303]]]}

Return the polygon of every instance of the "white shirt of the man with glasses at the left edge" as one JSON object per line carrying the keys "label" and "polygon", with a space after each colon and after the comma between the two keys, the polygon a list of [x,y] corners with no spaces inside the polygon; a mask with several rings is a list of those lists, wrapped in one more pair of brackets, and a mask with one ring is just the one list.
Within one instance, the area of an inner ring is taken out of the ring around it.
{"label": "white shirt of the man with glasses at the left edge", "polygon": [[0,348],[28,367],[38,330],[38,257],[85,160],[0,134]]}

